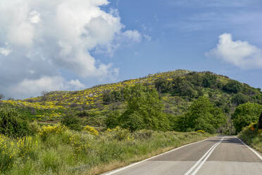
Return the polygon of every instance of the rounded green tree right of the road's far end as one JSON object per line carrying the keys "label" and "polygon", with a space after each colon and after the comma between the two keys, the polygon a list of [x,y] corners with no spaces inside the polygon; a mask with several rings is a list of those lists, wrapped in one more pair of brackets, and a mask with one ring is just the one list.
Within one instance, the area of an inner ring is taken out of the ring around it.
{"label": "rounded green tree right of the road's far end", "polygon": [[250,123],[257,122],[261,111],[261,104],[251,102],[240,104],[235,109],[234,114],[232,114],[232,121],[236,128],[236,131],[242,131],[242,128],[248,126]]}

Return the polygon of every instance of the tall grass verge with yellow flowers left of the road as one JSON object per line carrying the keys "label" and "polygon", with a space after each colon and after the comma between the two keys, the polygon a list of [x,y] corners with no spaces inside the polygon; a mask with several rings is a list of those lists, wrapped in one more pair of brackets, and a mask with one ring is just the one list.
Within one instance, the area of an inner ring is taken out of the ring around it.
{"label": "tall grass verge with yellow flowers left of the road", "polygon": [[0,172],[23,174],[101,174],[175,147],[208,138],[208,133],[136,131],[100,132],[42,126],[34,136],[0,137]]}

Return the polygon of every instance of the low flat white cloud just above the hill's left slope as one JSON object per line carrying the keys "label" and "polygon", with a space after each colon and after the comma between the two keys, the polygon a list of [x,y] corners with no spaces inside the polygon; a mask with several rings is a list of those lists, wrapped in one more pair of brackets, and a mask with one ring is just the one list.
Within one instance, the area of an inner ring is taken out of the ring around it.
{"label": "low flat white cloud just above the hill's left slope", "polygon": [[79,90],[79,88],[83,87],[85,87],[85,85],[77,79],[66,81],[61,76],[44,76],[36,80],[25,79],[17,85],[9,87],[9,91],[17,97],[23,97],[28,95],[28,92],[30,92],[30,95],[36,96],[42,91],[67,90],[68,88]]}

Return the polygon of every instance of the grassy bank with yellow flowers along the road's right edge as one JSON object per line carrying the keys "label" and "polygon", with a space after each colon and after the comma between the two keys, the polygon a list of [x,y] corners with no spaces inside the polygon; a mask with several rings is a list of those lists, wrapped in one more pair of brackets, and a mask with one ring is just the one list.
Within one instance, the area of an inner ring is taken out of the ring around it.
{"label": "grassy bank with yellow flowers along the road's right edge", "polygon": [[237,135],[244,143],[262,153],[262,129],[258,129],[258,124],[253,123],[245,127],[242,132]]}

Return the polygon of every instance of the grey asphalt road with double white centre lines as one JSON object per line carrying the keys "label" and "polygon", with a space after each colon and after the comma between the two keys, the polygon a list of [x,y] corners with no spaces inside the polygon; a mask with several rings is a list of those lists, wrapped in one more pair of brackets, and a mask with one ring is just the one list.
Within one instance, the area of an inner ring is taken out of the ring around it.
{"label": "grey asphalt road with double white centre lines", "polygon": [[180,147],[104,175],[111,174],[262,175],[262,157],[235,136],[219,136]]}

